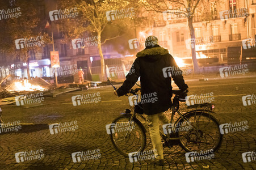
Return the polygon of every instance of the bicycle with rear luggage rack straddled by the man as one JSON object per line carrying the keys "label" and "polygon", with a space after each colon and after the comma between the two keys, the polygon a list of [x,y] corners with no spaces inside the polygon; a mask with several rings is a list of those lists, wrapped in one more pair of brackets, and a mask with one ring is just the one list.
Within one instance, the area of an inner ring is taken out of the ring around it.
{"label": "bicycle with rear luggage rack straddled by the man", "polygon": [[[108,82],[110,82],[110,79],[108,79]],[[111,82],[110,84],[114,87]],[[114,89],[116,90],[116,87]],[[127,96],[138,96],[140,90],[141,88],[132,89]],[[212,111],[214,105],[209,103],[195,104],[187,107],[188,109],[193,109],[192,111],[182,113],[179,111],[179,94],[181,94],[181,91],[173,90],[173,94],[175,96],[170,107],[171,120],[169,129],[166,128],[167,133],[160,131],[163,146],[171,148],[174,145],[179,145],[186,152],[203,150],[216,152],[221,146],[223,135],[220,133],[219,122],[210,114],[215,113]],[[137,117],[142,118],[143,121],[146,121],[146,118],[142,116],[142,108],[138,97],[136,101],[137,105],[133,109],[125,109],[125,113],[121,113],[121,116],[112,121],[112,124],[115,125],[115,130],[114,133],[111,131],[111,142],[116,150],[126,157],[131,152],[144,151],[146,146],[146,129]],[[179,118],[173,124],[175,113],[178,113]],[[127,130],[116,130],[116,126],[118,128],[120,125],[124,125],[124,122],[128,126],[126,127]],[[181,131],[182,127],[190,127],[190,129]],[[170,129],[173,130],[173,133],[168,133]]]}

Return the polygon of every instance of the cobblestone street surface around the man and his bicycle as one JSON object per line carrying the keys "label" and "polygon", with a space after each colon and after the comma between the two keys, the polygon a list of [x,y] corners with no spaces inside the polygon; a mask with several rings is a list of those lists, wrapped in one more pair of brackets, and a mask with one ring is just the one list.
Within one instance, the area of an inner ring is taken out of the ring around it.
{"label": "cobblestone street surface around the man and his bicycle", "polygon": [[[129,105],[127,97],[115,97],[110,86],[47,97],[40,106],[7,105],[2,107],[5,123],[20,121],[22,129],[0,134],[0,169],[256,169],[255,161],[242,160],[243,152],[256,148],[256,105],[242,103],[242,96],[256,94],[255,85],[255,77],[188,81],[189,95],[213,92],[214,116],[220,124],[248,121],[249,129],[224,134],[223,143],[211,160],[187,163],[186,151],[181,147],[165,148],[163,167],[154,167],[150,160],[130,163],[112,146],[106,125]],[[73,106],[72,96],[93,92],[100,93],[100,103]],[[50,133],[49,124],[71,121],[77,121],[77,130]],[[150,137],[146,135],[146,150],[151,150]],[[99,159],[73,163],[73,152],[97,149]],[[31,150],[43,150],[44,158],[16,163],[15,153]]]}

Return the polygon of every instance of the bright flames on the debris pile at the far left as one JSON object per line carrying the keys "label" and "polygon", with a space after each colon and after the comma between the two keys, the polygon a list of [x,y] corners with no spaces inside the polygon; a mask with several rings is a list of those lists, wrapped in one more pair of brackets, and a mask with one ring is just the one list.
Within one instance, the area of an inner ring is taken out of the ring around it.
{"label": "bright flames on the debris pile at the far left", "polygon": [[41,86],[35,86],[31,83],[28,82],[28,80],[24,80],[23,82],[14,82],[14,87],[13,87],[13,91],[44,91],[45,88],[41,87]]}

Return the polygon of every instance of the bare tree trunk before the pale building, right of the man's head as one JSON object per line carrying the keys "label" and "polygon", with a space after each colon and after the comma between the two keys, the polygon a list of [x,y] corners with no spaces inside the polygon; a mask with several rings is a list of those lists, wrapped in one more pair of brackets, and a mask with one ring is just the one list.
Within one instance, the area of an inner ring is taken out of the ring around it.
{"label": "bare tree trunk before the pale building, right of the man's head", "polygon": [[191,48],[194,73],[198,73],[199,70],[198,70],[198,62],[196,61],[196,49],[195,49],[195,30],[193,27],[192,17],[188,17],[188,27],[190,28],[191,45],[194,47],[194,48]]}

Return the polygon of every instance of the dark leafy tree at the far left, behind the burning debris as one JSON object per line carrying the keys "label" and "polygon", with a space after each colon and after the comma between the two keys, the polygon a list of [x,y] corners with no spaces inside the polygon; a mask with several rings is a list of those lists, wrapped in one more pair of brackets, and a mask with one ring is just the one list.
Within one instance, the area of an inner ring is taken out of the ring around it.
{"label": "dark leafy tree at the far left, behind the burning debris", "polygon": [[[3,3],[3,2],[2,2]],[[0,51],[5,52],[9,59],[15,59],[16,54],[19,54],[20,58],[27,63],[28,79],[30,79],[30,68],[28,52],[33,50],[34,53],[40,52],[45,43],[49,42],[49,36],[47,33],[42,32],[42,27],[45,23],[40,23],[40,14],[35,8],[37,2],[24,1],[6,1],[5,8],[19,8],[21,15],[17,18],[2,20],[3,27],[1,25],[1,35],[3,39],[0,40]],[[33,40],[40,38],[35,42],[28,42],[31,38]],[[19,49],[16,48],[16,40],[22,42],[22,46]],[[41,43],[43,42],[43,43]],[[35,45],[36,43],[36,45]]]}

